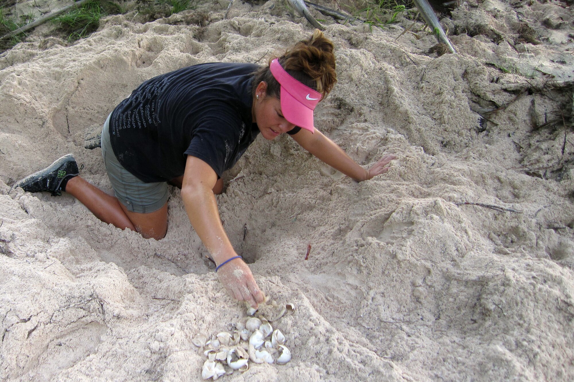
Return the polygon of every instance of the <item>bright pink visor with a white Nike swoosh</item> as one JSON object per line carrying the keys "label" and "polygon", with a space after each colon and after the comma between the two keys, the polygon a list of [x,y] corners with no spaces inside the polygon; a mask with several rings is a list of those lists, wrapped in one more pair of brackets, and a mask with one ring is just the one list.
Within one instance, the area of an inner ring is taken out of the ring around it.
{"label": "bright pink visor with a white Nike swoosh", "polygon": [[290,76],[277,59],[271,61],[269,69],[281,85],[281,111],[285,119],[295,126],[315,132],[313,110],[323,95]]}

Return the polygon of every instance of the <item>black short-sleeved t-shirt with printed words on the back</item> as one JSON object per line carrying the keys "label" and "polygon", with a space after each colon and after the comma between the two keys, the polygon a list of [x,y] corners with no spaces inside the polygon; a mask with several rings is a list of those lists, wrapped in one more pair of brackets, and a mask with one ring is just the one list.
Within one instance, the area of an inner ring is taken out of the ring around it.
{"label": "black short-sleeved t-shirt with printed words on the back", "polygon": [[251,115],[257,69],[200,64],[145,81],[111,115],[118,161],[144,182],[165,182],[182,176],[193,155],[221,177],[259,133]]}

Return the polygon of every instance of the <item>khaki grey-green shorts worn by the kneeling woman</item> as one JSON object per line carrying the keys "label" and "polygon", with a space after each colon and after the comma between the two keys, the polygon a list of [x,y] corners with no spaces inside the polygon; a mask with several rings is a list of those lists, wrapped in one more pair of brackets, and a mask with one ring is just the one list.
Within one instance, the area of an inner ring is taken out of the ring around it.
{"label": "khaki grey-green shorts worn by the kneeling woman", "polygon": [[111,114],[108,115],[102,130],[102,157],[114,189],[114,196],[128,211],[139,213],[157,211],[168,201],[168,184],[145,183],[118,162],[110,143],[110,117]]}

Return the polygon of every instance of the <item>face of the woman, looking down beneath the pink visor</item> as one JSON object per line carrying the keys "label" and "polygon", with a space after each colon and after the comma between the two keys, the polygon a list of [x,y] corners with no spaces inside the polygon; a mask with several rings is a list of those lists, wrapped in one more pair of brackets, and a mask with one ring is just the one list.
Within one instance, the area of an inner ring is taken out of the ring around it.
{"label": "face of the woman, looking down beneath the pink visor", "polygon": [[253,118],[263,138],[269,141],[295,127],[283,116],[281,100],[277,97],[266,96],[265,92],[259,95],[259,99],[254,100]]}

